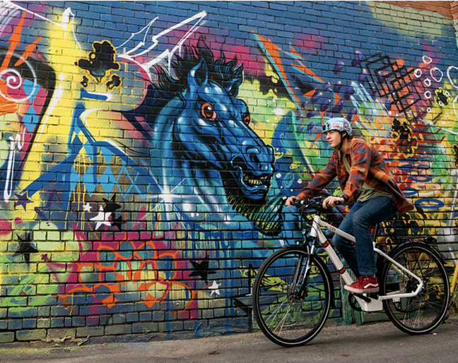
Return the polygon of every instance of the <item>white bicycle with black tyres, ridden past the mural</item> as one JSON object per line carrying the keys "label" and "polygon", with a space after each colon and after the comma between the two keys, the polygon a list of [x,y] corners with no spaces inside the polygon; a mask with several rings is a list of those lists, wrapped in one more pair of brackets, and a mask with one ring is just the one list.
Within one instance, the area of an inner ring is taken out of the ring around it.
{"label": "white bicycle with black tyres, ridden past the mural", "polygon": [[[284,347],[309,343],[322,330],[331,307],[335,307],[331,273],[317,251],[329,256],[346,284],[353,283],[320,227],[352,242],[354,237],[322,219],[325,211],[322,198],[300,201],[295,207],[307,224],[312,220],[311,229],[302,231],[302,242],[284,246],[264,261],[252,290],[253,312],[259,328],[267,338]],[[315,210],[314,217],[311,210]],[[384,310],[394,326],[412,335],[430,333],[437,328],[445,319],[450,301],[450,283],[438,251],[413,239],[388,254],[377,248],[375,242],[374,249],[380,291],[350,293],[353,309]]]}

